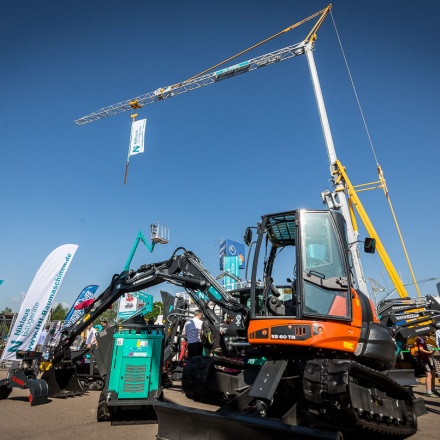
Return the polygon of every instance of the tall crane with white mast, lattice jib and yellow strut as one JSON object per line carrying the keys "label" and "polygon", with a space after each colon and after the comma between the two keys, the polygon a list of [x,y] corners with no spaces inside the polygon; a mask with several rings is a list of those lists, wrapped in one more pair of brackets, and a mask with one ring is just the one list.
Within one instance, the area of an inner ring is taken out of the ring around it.
{"label": "tall crane with white mast, lattice jib and yellow strut", "polygon": [[[123,113],[125,111],[130,110],[137,110],[140,109],[146,105],[153,104],[159,101],[163,101],[165,99],[199,89],[201,87],[215,84],[216,82],[222,81],[224,79],[232,78],[244,73],[251,72],[253,70],[259,69],[261,67],[270,66],[273,64],[276,64],[281,61],[288,60],[290,58],[295,58],[300,55],[306,55],[309,70],[310,70],[310,76],[312,79],[312,84],[315,92],[315,98],[316,103],[318,107],[318,112],[320,116],[321,121],[321,127],[324,135],[324,140],[326,144],[328,159],[330,163],[330,173],[334,181],[335,190],[332,194],[323,195],[323,201],[328,206],[329,209],[337,209],[340,210],[345,218],[346,224],[347,224],[347,235],[350,242],[350,250],[352,254],[352,263],[353,263],[353,271],[354,276],[357,282],[358,288],[363,292],[368,292],[367,289],[367,282],[362,270],[362,266],[360,263],[360,252],[358,249],[358,237],[359,232],[356,226],[356,219],[353,215],[353,193],[350,193],[347,191],[347,185],[349,183],[348,176],[344,174],[341,176],[342,170],[344,169],[340,162],[338,161],[336,150],[333,144],[333,139],[330,131],[330,125],[327,118],[327,113],[324,105],[324,99],[322,96],[322,91],[319,83],[319,78],[317,74],[317,69],[315,66],[315,61],[313,57],[313,50],[315,48],[315,40],[317,38],[317,31],[321,27],[323,21],[325,20],[326,16],[331,12],[332,5],[329,4],[326,8],[322,9],[321,11],[316,12],[315,14],[305,18],[304,20],[293,24],[289,26],[288,28],[278,32],[277,34],[263,40],[262,42],[250,47],[249,49],[246,49],[237,55],[228,58],[227,60],[216,64],[215,66],[201,72],[198,75],[195,75],[183,82],[179,82],[173,85],[165,86],[165,87],[159,87],[158,89],[146,93],[144,95],[139,95],[135,98],[128,99],[107,107],[103,107],[89,115],[83,116],[82,118],[79,118],[75,120],[75,124],[77,125],[84,125],[93,121],[97,121],[103,118],[107,118],[109,116],[113,116],[119,113]],[[313,19],[319,17],[314,26],[312,27],[311,31],[308,33],[306,38],[301,41],[300,43],[293,44],[290,46],[287,46],[283,49],[278,49],[273,52],[269,52],[265,55],[258,56],[256,58],[249,59],[247,61],[243,61],[228,67],[223,67],[221,69],[218,69],[221,65],[225,64],[226,62],[229,62],[230,60],[248,52],[249,50],[264,44],[265,42],[284,34],[299,25]],[[218,69],[218,70],[214,70]],[[214,70],[214,71],[213,71]],[[323,193],[324,194],[324,193]],[[357,199],[358,200],[358,199]],[[356,208],[359,208],[360,201],[358,203],[354,203]],[[402,286],[402,283],[400,279],[395,276],[397,273],[392,266],[391,260],[388,258],[385,249],[383,248],[380,240],[378,240],[378,236],[374,231],[374,228],[371,225],[371,222],[369,221],[366,213],[365,215],[361,215],[361,219],[364,222],[364,225],[367,227],[367,231],[370,233],[370,231],[373,231],[373,238],[376,240],[376,242],[379,243],[379,254],[382,258],[382,261],[384,263],[385,268],[387,269],[388,273],[390,274],[390,277],[393,280],[394,285],[396,286],[397,290],[399,291],[399,295],[401,297],[407,296],[406,291],[404,287]],[[371,235],[371,233],[370,233]]]}

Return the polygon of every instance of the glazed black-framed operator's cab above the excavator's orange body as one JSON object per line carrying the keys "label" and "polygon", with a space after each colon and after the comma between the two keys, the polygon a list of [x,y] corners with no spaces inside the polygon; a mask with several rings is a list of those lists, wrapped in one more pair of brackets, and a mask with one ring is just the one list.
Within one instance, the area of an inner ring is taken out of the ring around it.
{"label": "glazed black-framed operator's cab above the excavator's orange body", "polygon": [[351,319],[347,240],[333,215],[298,210],[263,217],[252,275],[255,317]]}

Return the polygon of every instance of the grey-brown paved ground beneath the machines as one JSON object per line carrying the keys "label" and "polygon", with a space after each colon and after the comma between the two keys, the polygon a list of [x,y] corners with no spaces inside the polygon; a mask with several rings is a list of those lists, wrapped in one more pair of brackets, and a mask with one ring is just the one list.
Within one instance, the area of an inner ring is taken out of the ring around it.
{"label": "grey-brown paved ground beneath the machines", "polygon": [[[6,371],[0,370],[0,379]],[[438,386],[440,389],[440,386]],[[425,387],[414,388],[418,397]],[[155,440],[157,424],[112,426],[96,421],[99,392],[90,391],[80,397],[50,399],[49,403],[31,407],[28,390],[14,388],[9,398],[0,401],[0,437],[5,440]],[[178,386],[165,390],[165,401],[204,409],[215,409],[187,400]],[[419,431],[412,440],[440,438],[440,398],[426,399],[428,414],[419,418]],[[188,439],[191,440],[191,439]],[[235,440],[235,439],[234,439]]]}

